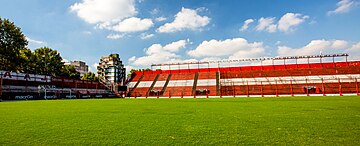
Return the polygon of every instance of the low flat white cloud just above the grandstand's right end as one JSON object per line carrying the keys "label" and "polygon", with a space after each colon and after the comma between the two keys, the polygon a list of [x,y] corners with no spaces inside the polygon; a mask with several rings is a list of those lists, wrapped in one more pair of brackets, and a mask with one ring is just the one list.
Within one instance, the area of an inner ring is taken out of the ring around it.
{"label": "low flat white cloud just above the grandstand's right end", "polygon": [[318,55],[347,52],[348,42],[344,40],[312,40],[301,48],[278,46],[279,56]]}

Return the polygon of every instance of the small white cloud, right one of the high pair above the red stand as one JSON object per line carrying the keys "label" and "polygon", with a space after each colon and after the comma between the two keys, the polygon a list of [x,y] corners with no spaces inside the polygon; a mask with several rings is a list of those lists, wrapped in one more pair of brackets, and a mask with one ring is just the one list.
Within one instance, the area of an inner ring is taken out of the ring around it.
{"label": "small white cloud, right one of the high pair above the red stand", "polygon": [[286,13],[283,15],[278,22],[278,29],[283,32],[293,31],[293,27],[300,25],[309,16],[302,16],[299,13]]}

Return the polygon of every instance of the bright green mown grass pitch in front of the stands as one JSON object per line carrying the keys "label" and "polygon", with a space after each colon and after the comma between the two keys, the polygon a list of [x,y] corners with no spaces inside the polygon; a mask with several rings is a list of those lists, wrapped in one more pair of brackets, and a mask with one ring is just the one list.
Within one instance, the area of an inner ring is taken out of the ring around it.
{"label": "bright green mown grass pitch in front of the stands", "polygon": [[360,97],[0,102],[0,145],[360,145]]}

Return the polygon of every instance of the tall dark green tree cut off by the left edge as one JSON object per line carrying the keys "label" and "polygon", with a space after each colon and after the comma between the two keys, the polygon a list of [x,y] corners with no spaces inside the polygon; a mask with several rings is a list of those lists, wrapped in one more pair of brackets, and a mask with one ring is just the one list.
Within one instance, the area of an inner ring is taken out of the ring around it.
{"label": "tall dark green tree cut off by the left edge", "polygon": [[20,50],[27,44],[21,29],[9,19],[0,17],[0,70],[20,71]]}

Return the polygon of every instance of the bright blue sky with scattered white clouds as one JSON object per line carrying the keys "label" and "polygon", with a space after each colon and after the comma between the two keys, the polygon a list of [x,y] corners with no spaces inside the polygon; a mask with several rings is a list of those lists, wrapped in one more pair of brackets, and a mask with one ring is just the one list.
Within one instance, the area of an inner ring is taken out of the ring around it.
{"label": "bright blue sky with scattered white clouds", "polygon": [[[350,53],[360,59],[358,0],[0,0],[29,48],[48,46],[95,71],[119,53],[152,63]],[[247,27],[246,27],[246,24]]]}

